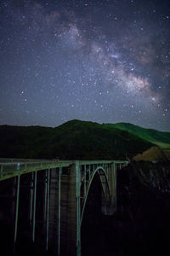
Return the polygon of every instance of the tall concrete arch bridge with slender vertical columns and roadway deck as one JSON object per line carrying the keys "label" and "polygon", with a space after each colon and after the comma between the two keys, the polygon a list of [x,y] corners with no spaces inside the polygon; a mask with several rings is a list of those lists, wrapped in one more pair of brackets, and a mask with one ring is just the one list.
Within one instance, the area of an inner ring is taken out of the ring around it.
{"label": "tall concrete arch bridge with slender vertical columns and roadway deck", "polygon": [[[0,159],[0,216],[14,254],[32,244],[50,255],[81,255],[81,224],[94,176],[104,214],[116,212],[116,172],[127,160]],[[8,202],[7,202],[8,201]],[[24,241],[24,242],[23,242]],[[57,242],[56,242],[57,241]]]}

